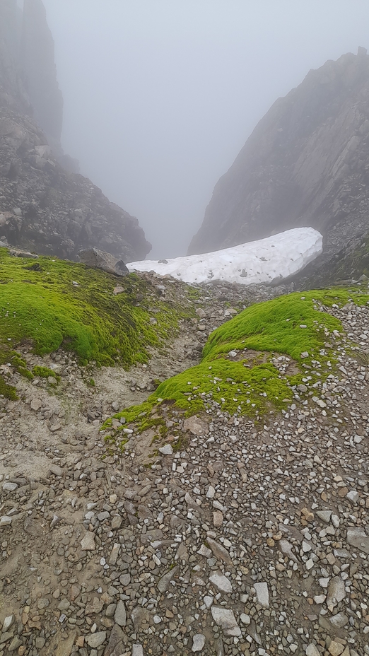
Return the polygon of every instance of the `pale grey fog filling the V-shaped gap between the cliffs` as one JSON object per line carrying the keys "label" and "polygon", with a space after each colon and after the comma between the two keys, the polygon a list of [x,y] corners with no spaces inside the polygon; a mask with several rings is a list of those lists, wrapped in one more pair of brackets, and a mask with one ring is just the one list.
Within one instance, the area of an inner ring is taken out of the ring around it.
{"label": "pale grey fog filling the V-shaped gap between the cliffs", "polygon": [[137,216],[149,259],[187,251],[218,178],[312,68],[369,47],[368,0],[44,0],[62,143]]}

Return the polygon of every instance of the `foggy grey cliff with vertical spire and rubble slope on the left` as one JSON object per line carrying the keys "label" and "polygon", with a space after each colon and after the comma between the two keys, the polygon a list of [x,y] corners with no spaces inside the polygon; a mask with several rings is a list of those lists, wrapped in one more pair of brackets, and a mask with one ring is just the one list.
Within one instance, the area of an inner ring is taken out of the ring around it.
{"label": "foggy grey cliff with vertical spire and rubble slope on the left", "polygon": [[62,98],[41,0],[0,2],[0,239],[76,259],[98,247],[125,262],[151,249],[136,218],[72,172],[60,146]]}

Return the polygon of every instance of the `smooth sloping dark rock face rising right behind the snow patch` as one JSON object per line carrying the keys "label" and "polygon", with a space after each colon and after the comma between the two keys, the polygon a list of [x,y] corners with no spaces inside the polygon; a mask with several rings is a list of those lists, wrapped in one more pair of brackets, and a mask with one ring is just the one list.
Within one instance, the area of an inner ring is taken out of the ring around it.
{"label": "smooth sloping dark rock face rising right behind the snow patch", "polygon": [[312,226],[332,254],[369,230],[369,57],[345,54],[279,98],[218,181],[189,253]]}

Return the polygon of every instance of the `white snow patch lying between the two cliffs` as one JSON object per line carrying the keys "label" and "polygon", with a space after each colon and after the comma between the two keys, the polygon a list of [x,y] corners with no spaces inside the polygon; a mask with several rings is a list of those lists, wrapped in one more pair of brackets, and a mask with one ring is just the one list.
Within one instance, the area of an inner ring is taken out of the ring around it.
{"label": "white snow patch lying between the two cliffs", "polygon": [[129,271],[156,271],[186,283],[223,280],[242,285],[271,283],[301,271],[322,252],[322,235],[314,228],[293,228],[284,233],[224,248],[213,253],[168,260],[129,262]]}

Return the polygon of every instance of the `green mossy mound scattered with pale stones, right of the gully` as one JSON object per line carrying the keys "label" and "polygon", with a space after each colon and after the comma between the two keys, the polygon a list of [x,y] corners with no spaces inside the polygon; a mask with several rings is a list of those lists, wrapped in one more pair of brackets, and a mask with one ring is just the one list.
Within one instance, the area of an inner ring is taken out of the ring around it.
{"label": "green mossy mound scattered with pale stones, right of the gully", "polygon": [[[164,424],[160,406],[168,409],[168,402],[186,416],[206,409],[209,402],[223,412],[250,416],[283,409],[293,401],[295,386],[307,380],[311,386],[332,373],[334,353],[328,354],[324,344],[332,332],[344,330],[327,308],[348,300],[364,305],[369,296],[340,288],[292,293],[247,307],[211,333],[199,365],[161,383],[147,402],[115,418],[134,423],[142,432]],[[285,373],[279,363],[286,365]],[[109,426],[112,420],[103,428]]]}

